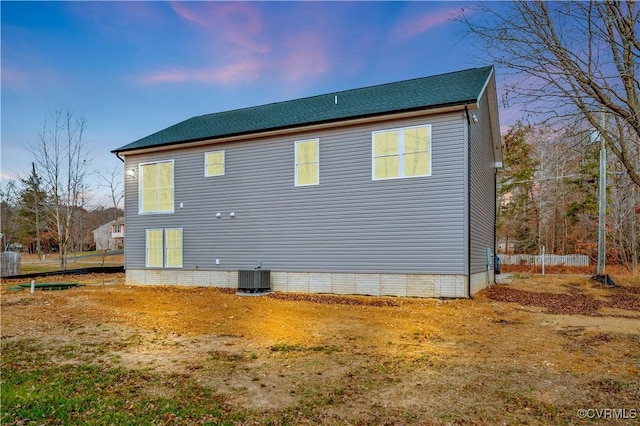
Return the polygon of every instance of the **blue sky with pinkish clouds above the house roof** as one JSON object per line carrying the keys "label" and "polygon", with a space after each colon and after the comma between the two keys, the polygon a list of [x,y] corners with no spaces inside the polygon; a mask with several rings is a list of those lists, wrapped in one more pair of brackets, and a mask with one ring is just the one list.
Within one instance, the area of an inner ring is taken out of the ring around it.
{"label": "blue sky with pinkish clouds above the house roof", "polygon": [[3,182],[52,110],[87,119],[105,172],[195,115],[487,65],[451,21],[465,4],[2,1]]}

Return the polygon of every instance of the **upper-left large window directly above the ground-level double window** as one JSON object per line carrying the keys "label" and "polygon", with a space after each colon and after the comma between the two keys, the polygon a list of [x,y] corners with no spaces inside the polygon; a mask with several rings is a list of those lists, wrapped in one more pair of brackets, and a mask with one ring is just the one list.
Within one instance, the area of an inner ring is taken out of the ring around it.
{"label": "upper-left large window directly above the ground-level double window", "polygon": [[139,213],[173,213],[173,160],[140,165]]}

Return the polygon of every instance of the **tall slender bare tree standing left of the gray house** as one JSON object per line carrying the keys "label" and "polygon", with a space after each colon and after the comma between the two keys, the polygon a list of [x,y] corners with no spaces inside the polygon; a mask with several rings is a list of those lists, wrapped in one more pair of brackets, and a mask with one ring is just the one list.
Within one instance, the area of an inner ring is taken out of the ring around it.
{"label": "tall slender bare tree standing left of the gray house", "polygon": [[54,224],[53,234],[60,251],[60,268],[67,269],[67,256],[72,245],[74,210],[82,199],[88,174],[84,131],[86,119],[73,112],[54,111],[50,121],[45,119],[36,143],[29,146],[42,173]]}

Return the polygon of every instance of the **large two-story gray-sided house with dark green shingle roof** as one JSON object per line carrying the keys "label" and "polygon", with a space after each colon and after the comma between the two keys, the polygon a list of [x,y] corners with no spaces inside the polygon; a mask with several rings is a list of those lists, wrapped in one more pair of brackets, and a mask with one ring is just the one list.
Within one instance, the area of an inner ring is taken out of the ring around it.
{"label": "large two-story gray-sided house with dark green shingle roof", "polygon": [[193,117],[124,160],[128,284],[469,297],[493,281],[493,67]]}

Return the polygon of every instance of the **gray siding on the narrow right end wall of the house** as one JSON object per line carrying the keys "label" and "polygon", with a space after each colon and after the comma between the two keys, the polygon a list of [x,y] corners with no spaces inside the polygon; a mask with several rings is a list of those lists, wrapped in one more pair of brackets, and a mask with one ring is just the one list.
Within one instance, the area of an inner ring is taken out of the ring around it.
{"label": "gray siding on the narrow right end wall of the house", "polygon": [[486,97],[473,113],[478,123],[471,123],[469,138],[470,274],[486,271],[486,249],[494,252],[496,199],[495,159]]}

